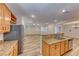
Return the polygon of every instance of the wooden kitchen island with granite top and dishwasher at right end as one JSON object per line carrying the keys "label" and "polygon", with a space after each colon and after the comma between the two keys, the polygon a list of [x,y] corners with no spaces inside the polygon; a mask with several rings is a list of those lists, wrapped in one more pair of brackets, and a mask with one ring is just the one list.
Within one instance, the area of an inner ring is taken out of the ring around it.
{"label": "wooden kitchen island with granite top and dishwasher at right end", "polygon": [[62,56],[70,50],[72,50],[72,38],[56,39],[52,37],[42,40],[43,56]]}

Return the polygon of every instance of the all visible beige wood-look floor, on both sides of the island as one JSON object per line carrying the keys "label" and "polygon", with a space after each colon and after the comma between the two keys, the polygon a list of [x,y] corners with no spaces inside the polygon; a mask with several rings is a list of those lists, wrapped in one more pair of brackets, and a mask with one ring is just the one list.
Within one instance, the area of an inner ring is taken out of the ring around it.
{"label": "all visible beige wood-look floor, on both sides of the island", "polygon": [[[39,35],[26,35],[24,37],[23,53],[21,56],[42,56],[41,41],[42,39]],[[64,56],[79,56],[79,39],[73,40],[73,50],[64,54]]]}

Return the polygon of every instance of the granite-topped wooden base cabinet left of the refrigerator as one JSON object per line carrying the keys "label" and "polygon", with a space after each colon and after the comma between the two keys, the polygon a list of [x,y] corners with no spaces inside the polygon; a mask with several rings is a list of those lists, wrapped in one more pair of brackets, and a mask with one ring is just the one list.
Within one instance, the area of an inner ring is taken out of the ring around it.
{"label": "granite-topped wooden base cabinet left of the refrigerator", "polygon": [[17,56],[18,40],[4,41],[0,44],[0,56]]}

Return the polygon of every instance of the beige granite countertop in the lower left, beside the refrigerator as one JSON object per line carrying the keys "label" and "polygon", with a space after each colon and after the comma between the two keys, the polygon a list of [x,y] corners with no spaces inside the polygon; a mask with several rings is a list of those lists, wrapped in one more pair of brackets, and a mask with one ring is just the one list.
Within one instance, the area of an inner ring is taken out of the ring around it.
{"label": "beige granite countertop in the lower left, beside the refrigerator", "polygon": [[4,41],[0,44],[0,56],[7,56],[14,43],[17,41],[18,40]]}

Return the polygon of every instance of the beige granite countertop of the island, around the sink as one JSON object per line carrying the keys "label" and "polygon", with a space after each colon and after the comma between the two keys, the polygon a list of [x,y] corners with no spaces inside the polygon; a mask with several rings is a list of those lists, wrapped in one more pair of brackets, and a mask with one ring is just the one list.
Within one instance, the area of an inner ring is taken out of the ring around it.
{"label": "beige granite countertop of the island, around the sink", "polygon": [[72,38],[68,38],[68,37],[64,37],[63,39],[56,39],[56,38],[47,38],[47,39],[44,39],[43,41],[46,42],[47,44],[54,44],[54,43],[57,43],[57,42],[61,42],[61,41],[64,41],[64,40],[71,40]]}

